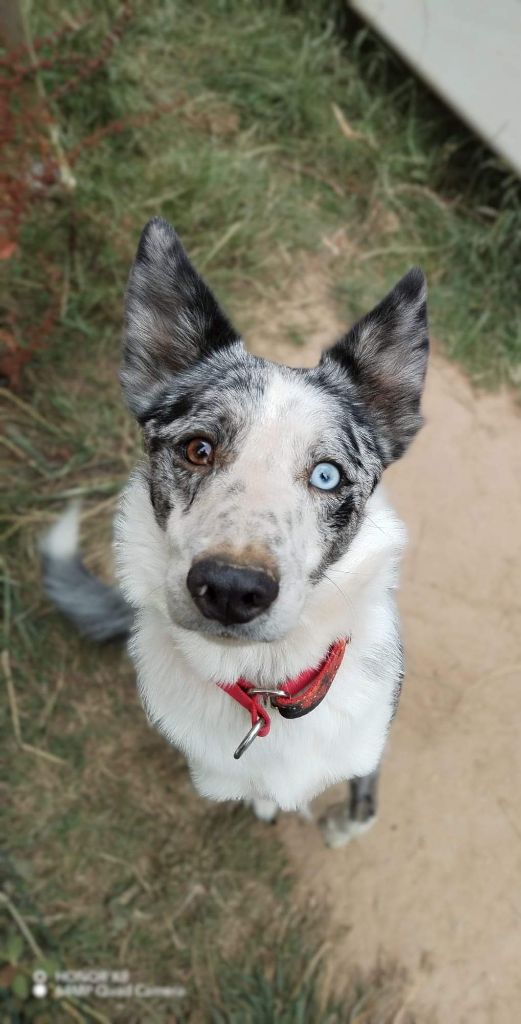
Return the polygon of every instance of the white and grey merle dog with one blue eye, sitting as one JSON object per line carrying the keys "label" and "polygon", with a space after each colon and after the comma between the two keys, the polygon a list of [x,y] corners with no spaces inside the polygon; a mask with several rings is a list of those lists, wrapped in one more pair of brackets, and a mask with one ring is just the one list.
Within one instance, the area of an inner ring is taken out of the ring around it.
{"label": "white and grey merle dog with one blue eye, sitting", "polygon": [[428,348],[414,268],[313,369],[257,358],[153,219],[126,293],[144,460],[116,521],[120,589],[83,566],[75,509],[43,543],[57,607],[95,640],[130,635],[148,719],[203,797],[271,821],[350,781],[330,846],[375,821],[400,694],[405,530],[381,478],[422,425]]}

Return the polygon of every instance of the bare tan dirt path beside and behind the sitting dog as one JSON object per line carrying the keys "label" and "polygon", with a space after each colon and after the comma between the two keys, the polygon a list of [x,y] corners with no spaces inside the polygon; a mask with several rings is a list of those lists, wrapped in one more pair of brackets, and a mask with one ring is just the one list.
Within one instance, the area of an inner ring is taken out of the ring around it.
{"label": "bare tan dirt path beside and behind the sitting dog", "polygon": [[[312,365],[341,325],[318,267],[266,304],[252,347]],[[285,324],[310,342],[275,346]],[[408,1007],[442,1024],[521,1019],[521,419],[434,353],[427,425],[388,472],[409,529],[400,606],[407,676],[380,817],[329,851],[278,828],[302,899],[325,900],[340,981],[381,955],[407,969]],[[317,810],[342,797],[342,787]]]}

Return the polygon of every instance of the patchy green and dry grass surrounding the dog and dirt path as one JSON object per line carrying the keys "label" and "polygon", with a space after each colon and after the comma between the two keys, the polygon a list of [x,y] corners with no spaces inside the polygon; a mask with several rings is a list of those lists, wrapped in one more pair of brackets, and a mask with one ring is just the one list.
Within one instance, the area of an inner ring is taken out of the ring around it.
{"label": "patchy green and dry grass surrounding the dog and dirt path", "polygon": [[[92,8],[67,43],[81,60],[99,52],[118,9]],[[266,296],[291,292],[303,252],[328,255],[346,315],[420,262],[446,351],[477,383],[521,383],[518,185],[334,12],[136,0],[110,58],[54,104],[76,188],[37,198],[2,261],[17,345],[56,305],[21,390],[0,390],[2,1024],[58,1020],[28,998],[42,961],[50,973],[126,967],[134,981],[186,993],[130,1011],[73,998],[63,1020],[405,1020],[395,970],[356,981],[348,965],[342,998],[329,991],[325,923],[295,907],[276,829],[193,797],[182,761],[147,729],[122,652],[74,637],[39,585],[38,536],[77,495],[88,563],[110,572],[115,498],[138,451],[116,380],[122,290],[153,214],[176,224],[240,324]],[[84,15],[83,4],[66,12],[46,0],[31,29]],[[48,92],[70,74],[50,56]],[[302,345],[301,325],[287,338]]]}

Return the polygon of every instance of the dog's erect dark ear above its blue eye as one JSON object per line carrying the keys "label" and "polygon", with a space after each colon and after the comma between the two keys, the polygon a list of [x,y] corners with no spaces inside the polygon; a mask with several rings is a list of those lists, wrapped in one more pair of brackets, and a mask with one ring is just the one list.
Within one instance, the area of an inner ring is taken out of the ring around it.
{"label": "dog's erect dark ear above its blue eye", "polygon": [[322,356],[339,362],[355,382],[383,441],[386,465],[403,454],[423,422],[426,299],[425,276],[415,267]]}

